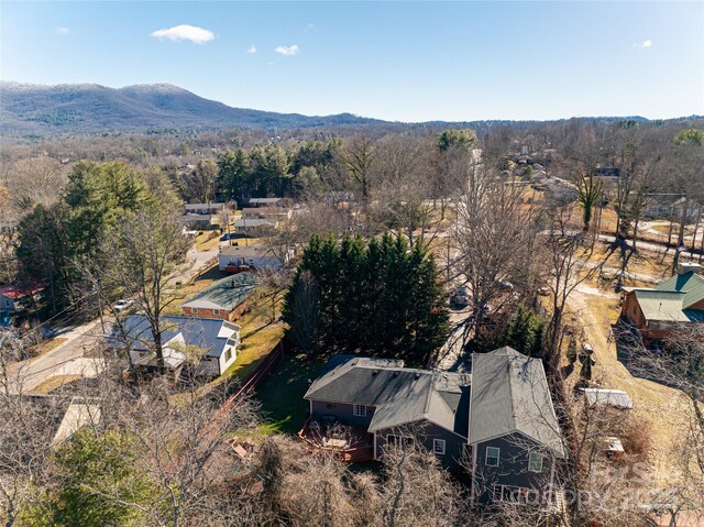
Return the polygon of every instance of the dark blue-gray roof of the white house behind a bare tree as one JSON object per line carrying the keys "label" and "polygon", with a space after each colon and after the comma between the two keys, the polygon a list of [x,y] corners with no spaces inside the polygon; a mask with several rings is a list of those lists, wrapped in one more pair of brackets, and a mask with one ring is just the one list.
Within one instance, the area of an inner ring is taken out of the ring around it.
{"label": "dark blue-gray roof of the white house behind a bare tree", "polygon": [[[223,323],[239,331],[240,327],[223,320],[193,317],[162,317],[162,343],[166,343],[178,333],[184,336],[187,345],[206,350],[207,356],[220,356],[227,343],[218,337]],[[108,338],[112,347],[125,347],[131,350],[146,351],[154,343],[148,320],[144,315],[130,315],[123,322],[127,338],[116,329]]]}

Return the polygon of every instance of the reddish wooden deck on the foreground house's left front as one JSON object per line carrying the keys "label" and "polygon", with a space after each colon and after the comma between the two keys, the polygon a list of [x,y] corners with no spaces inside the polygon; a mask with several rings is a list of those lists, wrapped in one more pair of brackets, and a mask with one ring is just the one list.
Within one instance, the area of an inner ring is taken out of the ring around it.
{"label": "reddish wooden deck on the foreground house's left front", "polygon": [[329,452],[340,461],[359,463],[374,459],[374,437],[363,428],[324,424],[309,417],[298,437],[312,452]]}

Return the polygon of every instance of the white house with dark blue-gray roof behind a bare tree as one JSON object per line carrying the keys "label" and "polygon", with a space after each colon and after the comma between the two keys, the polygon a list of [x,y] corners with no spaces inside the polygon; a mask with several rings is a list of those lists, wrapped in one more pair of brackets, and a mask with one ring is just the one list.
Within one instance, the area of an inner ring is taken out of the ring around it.
{"label": "white house with dark blue-gray roof behind a bare tree", "polygon": [[[161,318],[162,349],[167,370],[177,377],[193,350],[200,352],[197,371],[209,376],[222,375],[237,360],[240,327],[227,320],[172,317]],[[122,328],[116,327],[108,339],[111,347],[125,349],[130,362],[145,373],[157,366],[154,338],[144,315],[131,315]]]}

